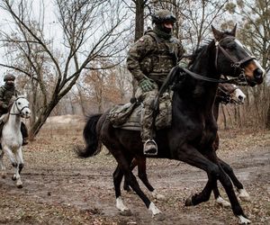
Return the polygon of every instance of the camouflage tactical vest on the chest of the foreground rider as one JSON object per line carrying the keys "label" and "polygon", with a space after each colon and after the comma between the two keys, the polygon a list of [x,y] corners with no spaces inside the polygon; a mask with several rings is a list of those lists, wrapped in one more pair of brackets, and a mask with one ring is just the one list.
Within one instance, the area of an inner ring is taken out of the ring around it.
{"label": "camouflage tactical vest on the chest of the foreground rider", "polygon": [[171,38],[164,40],[157,36],[153,31],[149,31],[147,35],[155,40],[155,47],[148,55],[140,61],[139,65],[142,72],[149,78],[162,84],[171,70],[176,66],[178,55],[178,40]]}

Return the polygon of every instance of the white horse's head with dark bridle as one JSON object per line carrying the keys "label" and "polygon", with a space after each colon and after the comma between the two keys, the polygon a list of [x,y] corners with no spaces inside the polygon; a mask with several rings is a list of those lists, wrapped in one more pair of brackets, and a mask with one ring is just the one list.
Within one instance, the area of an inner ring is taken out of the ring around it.
{"label": "white horse's head with dark bridle", "polygon": [[23,118],[30,118],[31,110],[29,102],[24,95],[15,98],[10,114],[20,115]]}

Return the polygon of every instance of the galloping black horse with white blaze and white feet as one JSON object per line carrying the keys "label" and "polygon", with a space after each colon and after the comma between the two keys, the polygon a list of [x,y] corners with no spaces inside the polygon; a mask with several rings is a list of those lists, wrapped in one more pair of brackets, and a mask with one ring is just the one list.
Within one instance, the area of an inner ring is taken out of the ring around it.
{"label": "galloping black horse with white blaze and white feet", "polygon": [[[248,85],[254,86],[263,82],[264,72],[255,58],[249,56],[236,40],[236,27],[226,32],[217,31],[212,27],[212,31],[214,39],[202,47],[193,60],[190,67],[193,72],[181,73],[183,70],[179,67],[171,71],[171,82],[175,84],[172,126],[157,131],[156,157],[181,160],[207,173],[206,186],[201,193],[188,198],[186,205],[208,201],[211,190],[219,180],[229,196],[232,211],[241,223],[247,223],[250,221],[238,202],[229,176],[224,172],[212,148],[217,134],[212,105],[218,88],[215,82],[220,81],[221,75],[238,77],[246,80]],[[107,119],[107,112],[90,117],[85,126],[88,128],[84,134],[86,148],[78,149],[78,156],[94,156],[100,151],[100,143],[103,143],[118,163],[113,173],[116,207],[122,212],[130,212],[121,200],[121,180],[124,175],[152,216],[157,220],[163,220],[162,212],[141,191],[135,175],[130,171],[131,160],[134,157],[144,157],[139,131],[113,128],[111,121]]]}

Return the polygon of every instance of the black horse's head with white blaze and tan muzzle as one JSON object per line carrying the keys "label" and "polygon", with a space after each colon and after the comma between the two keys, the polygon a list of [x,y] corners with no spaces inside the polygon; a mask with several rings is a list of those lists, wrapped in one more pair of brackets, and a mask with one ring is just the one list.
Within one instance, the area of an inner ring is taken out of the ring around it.
{"label": "black horse's head with white blaze and tan muzzle", "polygon": [[215,42],[215,67],[224,76],[239,77],[247,85],[259,85],[263,82],[263,69],[254,56],[236,39],[236,26],[232,31],[221,32],[211,26]]}

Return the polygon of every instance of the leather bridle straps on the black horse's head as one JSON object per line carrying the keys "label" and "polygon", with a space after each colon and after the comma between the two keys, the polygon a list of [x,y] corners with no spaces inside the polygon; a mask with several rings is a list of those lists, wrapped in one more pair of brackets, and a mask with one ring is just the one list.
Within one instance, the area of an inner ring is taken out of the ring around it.
{"label": "leather bridle straps on the black horse's head", "polygon": [[[244,73],[244,69],[241,67],[244,63],[246,63],[247,61],[250,61],[252,59],[256,59],[255,56],[247,56],[245,58],[242,58],[240,60],[236,60],[235,58],[232,58],[228,51],[226,49],[224,49],[220,43],[223,41],[223,40],[226,40],[226,39],[232,39],[232,40],[236,40],[236,38],[234,36],[227,36],[223,39],[221,39],[220,41],[218,40],[214,40],[215,41],[215,47],[216,47],[216,56],[215,56],[215,67],[216,67],[216,70],[219,71],[218,69],[218,58],[219,58],[219,51],[221,51],[223,53],[223,55],[228,58],[230,61],[231,61],[231,64],[230,64],[230,67],[234,67],[234,74],[236,73],[236,70],[239,68],[241,70],[241,73],[240,75],[238,76],[238,78],[240,80],[243,80],[245,79],[245,73]],[[226,75],[224,75],[226,77]]]}

